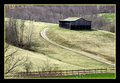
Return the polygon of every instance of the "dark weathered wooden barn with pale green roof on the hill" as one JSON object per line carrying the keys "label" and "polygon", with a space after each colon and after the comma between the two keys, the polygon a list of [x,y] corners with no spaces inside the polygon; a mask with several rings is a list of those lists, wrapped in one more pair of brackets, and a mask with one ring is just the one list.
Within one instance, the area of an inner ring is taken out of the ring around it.
{"label": "dark weathered wooden barn with pale green roof on the hill", "polygon": [[81,17],[68,17],[59,20],[59,27],[70,30],[91,30],[91,21]]}

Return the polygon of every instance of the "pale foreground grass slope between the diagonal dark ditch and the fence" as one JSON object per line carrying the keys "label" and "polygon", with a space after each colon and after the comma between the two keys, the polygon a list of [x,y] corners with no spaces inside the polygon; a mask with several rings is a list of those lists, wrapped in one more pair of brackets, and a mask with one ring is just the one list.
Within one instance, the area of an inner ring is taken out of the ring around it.
{"label": "pale foreground grass slope between the diagonal dark ditch and the fence", "polygon": [[[21,48],[12,46],[12,45],[10,45],[10,48],[7,51],[6,55],[11,53],[12,51],[15,51],[16,49],[18,51],[15,54],[15,56],[16,56],[15,58],[22,57],[22,56],[23,57],[28,57],[28,59],[30,61],[32,61],[32,63],[33,63],[32,71],[37,71],[37,68],[40,67],[40,66],[43,66],[44,62],[46,62],[46,61],[49,62],[49,64],[53,65],[53,66],[54,66],[54,64],[58,64],[60,69],[62,69],[62,68],[64,68],[64,69],[72,69],[72,68],[77,69],[77,68],[79,68],[78,66],[75,66],[75,65],[72,65],[72,64],[67,64],[67,63],[58,61],[56,59],[49,58],[48,56],[45,56],[43,54],[31,52],[31,51],[28,51],[28,50],[24,50],[24,49],[21,49]],[[24,71],[23,66],[18,67],[17,71]]]}

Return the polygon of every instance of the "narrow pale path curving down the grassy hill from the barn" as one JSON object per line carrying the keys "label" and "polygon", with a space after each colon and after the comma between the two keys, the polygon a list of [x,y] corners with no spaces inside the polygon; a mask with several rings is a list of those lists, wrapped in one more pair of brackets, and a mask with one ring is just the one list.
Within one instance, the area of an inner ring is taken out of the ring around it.
{"label": "narrow pale path curving down the grassy hill from the barn", "polygon": [[59,46],[59,47],[61,47],[61,48],[64,48],[64,49],[67,49],[67,50],[70,50],[70,51],[79,53],[79,54],[81,54],[81,55],[87,56],[87,57],[89,57],[89,58],[95,59],[95,60],[97,60],[97,61],[100,61],[100,62],[109,64],[109,65],[115,65],[115,64],[110,63],[110,61],[108,61],[108,60],[106,60],[106,59],[103,59],[103,58],[101,58],[101,57],[99,57],[99,56],[96,56],[96,55],[94,55],[94,54],[90,54],[90,53],[83,52],[83,51],[77,51],[77,50],[74,50],[74,49],[72,49],[72,48],[68,48],[68,47],[62,46],[62,45],[60,45],[60,44],[57,44],[57,43],[54,42],[54,41],[51,41],[51,40],[46,36],[46,34],[45,34],[45,32],[46,32],[47,30],[48,30],[48,28],[44,28],[44,29],[41,31],[41,36],[42,36],[45,40],[47,40],[48,42],[50,42],[50,43],[52,43],[52,44],[54,44],[54,45],[56,45],[56,46]]}

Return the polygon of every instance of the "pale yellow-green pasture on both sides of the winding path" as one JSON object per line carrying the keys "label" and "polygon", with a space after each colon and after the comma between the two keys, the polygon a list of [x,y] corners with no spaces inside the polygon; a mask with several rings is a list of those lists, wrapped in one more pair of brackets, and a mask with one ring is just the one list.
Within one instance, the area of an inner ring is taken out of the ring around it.
{"label": "pale yellow-green pasture on both sides of the winding path", "polygon": [[[24,31],[24,36],[26,35],[25,32],[27,31],[27,28],[31,26],[29,25],[29,22],[30,21],[27,20],[25,21],[26,28]],[[112,63],[115,63],[115,34],[102,30],[66,30],[59,28],[58,24],[45,22],[33,22],[33,25],[33,46],[31,47],[33,51],[10,45],[10,49],[7,52],[9,54],[18,49],[15,56],[28,57],[33,63],[33,68],[31,71],[37,71],[37,68],[44,65],[44,62],[49,62],[52,66],[57,65],[59,70],[114,68],[114,66],[98,62],[94,59],[55,46],[44,40],[41,37],[40,32],[44,28],[48,27],[49,30],[46,34],[49,39],[66,47],[97,54],[98,56],[110,60]],[[16,68],[16,70],[25,71],[22,66]]]}

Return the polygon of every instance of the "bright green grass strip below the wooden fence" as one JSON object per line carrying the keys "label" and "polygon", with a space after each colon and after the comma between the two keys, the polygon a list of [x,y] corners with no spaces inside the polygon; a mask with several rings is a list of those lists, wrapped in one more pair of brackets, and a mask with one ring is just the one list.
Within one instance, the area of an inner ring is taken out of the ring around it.
{"label": "bright green grass strip below the wooden fence", "polygon": [[[115,73],[99,73],[99,74],[85,74],[85,75],[68,75],[57,77],[35,77],[25,79],[115,79]],[[23,78],[20,78],[23,79]]]}

